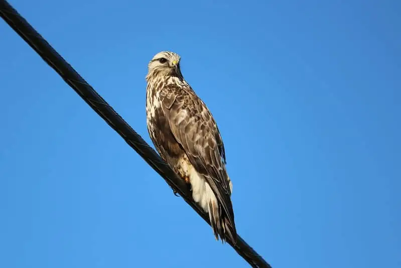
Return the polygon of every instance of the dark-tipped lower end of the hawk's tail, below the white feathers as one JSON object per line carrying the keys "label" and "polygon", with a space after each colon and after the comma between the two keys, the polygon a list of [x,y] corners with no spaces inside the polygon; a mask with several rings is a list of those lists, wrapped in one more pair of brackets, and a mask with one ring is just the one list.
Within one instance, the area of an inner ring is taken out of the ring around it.
{"label": "dark-tipped lower end of the hawk's tail, below the white feathers", "polygon": [[235,229],[235,224],[231,224],[228,215],[224,210],[218,206],[214,201],[210,201],[209,207],[209,219],[216,240],[221,239],[221,242],[227,242],[227,239],[236,245],[237,232]]}

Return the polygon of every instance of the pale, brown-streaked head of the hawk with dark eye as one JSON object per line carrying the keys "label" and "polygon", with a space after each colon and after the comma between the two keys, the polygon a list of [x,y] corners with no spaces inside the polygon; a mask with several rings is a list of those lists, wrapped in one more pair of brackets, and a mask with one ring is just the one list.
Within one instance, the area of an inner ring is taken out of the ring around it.
{"label": "pale, brown-streaked head of the hawk with dark eye", "polygon": [[180,55],[170,52],[162,51],[157,53],[148,64],[148,75],[146,79],[149,80],[152,76],[177,76],[182,77],[180,70]]}

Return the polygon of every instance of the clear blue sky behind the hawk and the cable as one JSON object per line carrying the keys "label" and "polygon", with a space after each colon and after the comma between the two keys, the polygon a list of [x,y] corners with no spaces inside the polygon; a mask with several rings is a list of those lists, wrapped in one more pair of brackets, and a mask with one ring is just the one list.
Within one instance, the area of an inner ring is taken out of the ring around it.
{"label": "clear blue sky behind the hawk and the cable", "polygon": [[[10,2],[150,142],[161,50],[218,122],[273,267],[401,265],[401,2]],[[248,267],[3,21],[0,266]]]}

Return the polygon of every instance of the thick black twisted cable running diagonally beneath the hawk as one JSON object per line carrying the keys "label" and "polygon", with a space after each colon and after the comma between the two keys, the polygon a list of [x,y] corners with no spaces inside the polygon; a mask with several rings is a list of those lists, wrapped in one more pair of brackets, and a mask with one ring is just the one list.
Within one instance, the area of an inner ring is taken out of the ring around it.
{"label": "thick black twisted cable running diagonally beneath the hawk", "polygon": [[[158,172],[209,225],[209,217],[194,203],[187,186],[170,166],[149,146],[145,140],[118,115],[114,109],[95,92],[60,54],[5,0],[0,0],[0,17],[19,34],[49,64],[73,90],[114,129],[142,158]],[[4,42],[4,41],[3,41]],[[236,244],[227,242],[252,267],[271,268],[256,251],[239,235]]]}

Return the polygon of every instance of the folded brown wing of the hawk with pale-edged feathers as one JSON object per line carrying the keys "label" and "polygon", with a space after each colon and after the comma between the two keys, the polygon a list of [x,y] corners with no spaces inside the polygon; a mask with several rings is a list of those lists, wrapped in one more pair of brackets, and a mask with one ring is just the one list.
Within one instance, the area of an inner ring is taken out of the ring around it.
{"label": "folded brown wing of the hawk with pale-edged feathers", "polygon": [[160,99],[174,137],[184,148],[191,164],[204,175],[235,228],[224,144],[211,113],[189,86],[166,86],[160,92]]}

